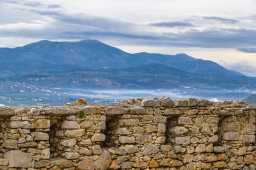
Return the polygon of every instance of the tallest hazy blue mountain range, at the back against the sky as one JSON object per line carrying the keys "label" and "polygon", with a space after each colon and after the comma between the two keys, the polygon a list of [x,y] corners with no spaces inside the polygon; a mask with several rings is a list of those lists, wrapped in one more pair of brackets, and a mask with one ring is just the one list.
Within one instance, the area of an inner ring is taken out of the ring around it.
{"label": "tallest hazy blue mountain range, at the back against the sky", "polygon": [[[132,54],[93,39],[77,42],[44,40],[17,48],[0,48],[0,62],[3,64],[0,77],[11,76],[20,71],[64,71],[76,67],[121,69],[151,63],[164,64],[189,73],[244,76],[236,71],[225,69],[216,62],[195,59],[184,53],[177,55]],[[12,63],[12,66],[6,67],[4,63]],[[22,68],[20,64],[28,66],[20,70]],[[19,71],[13,67],[17,67]],[[58,67],[58,69],[50,69],[51,67]]]}

